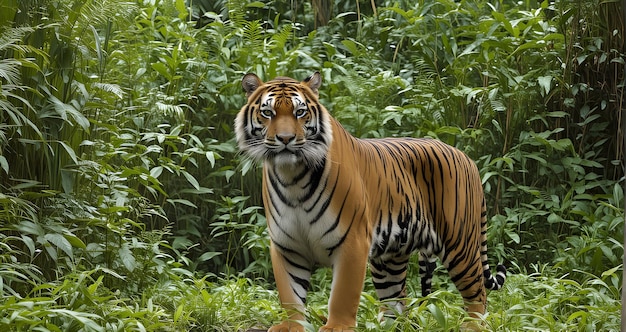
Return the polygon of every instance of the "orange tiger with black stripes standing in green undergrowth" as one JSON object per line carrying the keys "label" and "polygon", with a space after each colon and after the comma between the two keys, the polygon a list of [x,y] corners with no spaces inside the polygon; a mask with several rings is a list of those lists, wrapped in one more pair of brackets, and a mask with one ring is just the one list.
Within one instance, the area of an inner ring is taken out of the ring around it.
{"label": "orange tiger with black stripes standing in green undergrowth", "polygon": [[328,317],[319,331],[353,331],[367,268],[381,310],[405,309],[407,266],[419,253],[422,293],[437,259],[472,317],[506,268],[487,263],[481,178],[461,150],[428,138],[353,137],[319,101],[319,72],[298,81],[241,84],[234,131],[244,156],[263,164],[270,258],[286,319],[269,332],[301,332],[315,268],[332,268]]}

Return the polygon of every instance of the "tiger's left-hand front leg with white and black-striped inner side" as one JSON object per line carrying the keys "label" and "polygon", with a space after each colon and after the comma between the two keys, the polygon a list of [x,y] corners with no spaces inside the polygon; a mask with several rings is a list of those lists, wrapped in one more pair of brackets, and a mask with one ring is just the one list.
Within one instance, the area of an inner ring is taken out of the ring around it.
{"label": "tiger's left-hand front leg with white and black-striped inner side", "polygon": [[274,244],[270,247],[270,256],[278,297],[288,319],[270,327],[268,332],[304,332],[304,327],[299,322],[305,321],[304,302],[311,272],[298,264],[294,265],[293,261],[290,263]]}

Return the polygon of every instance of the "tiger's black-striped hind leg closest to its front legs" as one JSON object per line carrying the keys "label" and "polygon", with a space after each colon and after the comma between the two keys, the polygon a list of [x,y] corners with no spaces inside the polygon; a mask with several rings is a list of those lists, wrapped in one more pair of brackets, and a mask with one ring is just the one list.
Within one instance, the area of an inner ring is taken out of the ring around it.
{"label": "tiger's black-striped hind leg closest to its front legs", "polygon": [[406,270],[408,257],[393,259],[370,259],[372,282],[378,299],[385,302],[381,311],[386,316],[402,313],[406,298]]}

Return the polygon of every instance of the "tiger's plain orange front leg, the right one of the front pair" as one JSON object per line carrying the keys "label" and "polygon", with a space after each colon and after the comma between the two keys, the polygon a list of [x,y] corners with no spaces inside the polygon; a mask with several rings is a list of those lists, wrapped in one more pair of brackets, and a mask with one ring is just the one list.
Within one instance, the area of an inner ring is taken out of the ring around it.
{"label": "tiger's plain orange front leg, the right one of the front pair", "polygon": [[[353,233],[354,234],[354,233]],[[354,331],[365,282],[369,245],[346,240],[333,263],[333,282],[328,303],[328,322],[320,332]]]}

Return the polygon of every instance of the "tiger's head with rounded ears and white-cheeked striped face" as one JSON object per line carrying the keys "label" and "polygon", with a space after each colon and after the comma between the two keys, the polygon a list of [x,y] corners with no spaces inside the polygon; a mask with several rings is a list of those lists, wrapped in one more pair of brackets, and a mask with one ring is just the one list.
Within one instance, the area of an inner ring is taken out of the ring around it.
{"label": "tiger's head with rounded ears and white-cheeked striped face", "polygon": [[235,118],[239,149],[277,166],[317,167],[331,140],[330,115],[318,101],[322,83],[316,72],[302,82],[276,77],[263,82],[247,74],[241,84],[248,102]]}

